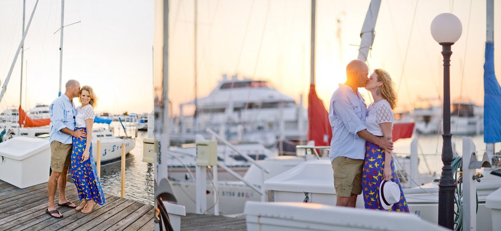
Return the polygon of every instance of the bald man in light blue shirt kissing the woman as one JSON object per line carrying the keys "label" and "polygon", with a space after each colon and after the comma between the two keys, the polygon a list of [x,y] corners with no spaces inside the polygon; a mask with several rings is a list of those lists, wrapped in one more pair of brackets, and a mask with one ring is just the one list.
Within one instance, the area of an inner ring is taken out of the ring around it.
{"label": "bald man in light blue shirt kissing the woman", "polygon": [[357,195],[362,193],[362,164],[365,140],[387,149],[393,142],[367,131],[367,105],[358,91],[367,83],[369,67],[361,60],[352,60],[346,66],[346,82],[334,91],[329,106],[332,126],[329,158],[334,170],[336,206],[355,207]]}

